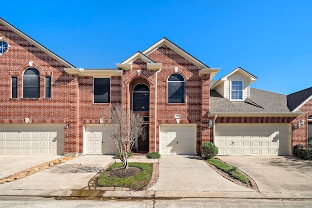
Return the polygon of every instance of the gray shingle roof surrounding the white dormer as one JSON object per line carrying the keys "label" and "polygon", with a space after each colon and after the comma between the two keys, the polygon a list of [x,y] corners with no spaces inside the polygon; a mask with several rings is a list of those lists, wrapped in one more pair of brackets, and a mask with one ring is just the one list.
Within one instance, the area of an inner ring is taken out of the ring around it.
{"label": "gray shingle roof surrounding the white dormer", "polygon": [[[211,81],[211,86],[214,85],[214,81]],[[290,113],[286,95],[254,88],[250,88],[250,95],[249,99],[258,106],[248,102],[230,101],[212,90],[210,93],[210,111],[212,113]]]}

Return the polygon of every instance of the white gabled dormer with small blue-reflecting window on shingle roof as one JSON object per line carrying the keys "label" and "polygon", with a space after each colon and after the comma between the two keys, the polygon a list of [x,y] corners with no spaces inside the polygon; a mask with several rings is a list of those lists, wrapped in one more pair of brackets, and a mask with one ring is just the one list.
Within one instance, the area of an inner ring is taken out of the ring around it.
{"label": "white gabled dormer with small blue-reflecting window on shingle roof", "polygon": [[250,97],[250,84],[255,80],[257,77],[238,67],[219,79],[211,90],[231,101],[245,101]]}

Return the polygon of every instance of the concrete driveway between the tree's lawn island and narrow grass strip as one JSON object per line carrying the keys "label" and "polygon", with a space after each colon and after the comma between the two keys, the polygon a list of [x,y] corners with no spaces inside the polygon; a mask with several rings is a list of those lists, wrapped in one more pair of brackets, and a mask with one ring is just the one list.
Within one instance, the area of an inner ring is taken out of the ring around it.
{"label": "concrete driveway between the tree's lawn island and narrow grass strip", "polygon": [[162,155],[158,181],[149,190],[254,191],[219,175],[200,158],[187,155]]}

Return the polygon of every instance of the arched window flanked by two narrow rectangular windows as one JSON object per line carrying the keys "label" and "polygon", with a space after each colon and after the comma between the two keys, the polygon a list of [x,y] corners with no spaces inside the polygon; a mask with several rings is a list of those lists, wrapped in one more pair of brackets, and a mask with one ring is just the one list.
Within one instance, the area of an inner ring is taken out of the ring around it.
{"label": "arched window flanked by two narrow rectangular windows", "polygon": [[39,98],[40,75],[35,68],[26,69],[23,75],[23,97]]}

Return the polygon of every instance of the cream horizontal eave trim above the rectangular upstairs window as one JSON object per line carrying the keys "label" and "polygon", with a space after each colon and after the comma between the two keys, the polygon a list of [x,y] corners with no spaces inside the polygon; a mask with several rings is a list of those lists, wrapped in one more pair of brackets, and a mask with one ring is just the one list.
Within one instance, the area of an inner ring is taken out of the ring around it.
{"label": "cream horizontal eave trim above the rectangular upstairs window", "polygon": [[122,70],[111,70],[111,69],[72,69],[65,68],[65,72],[69,75],[78,76],[93,76],[93,77],[105,77],[105,76],[122,76]]}

